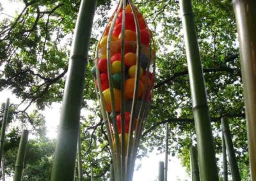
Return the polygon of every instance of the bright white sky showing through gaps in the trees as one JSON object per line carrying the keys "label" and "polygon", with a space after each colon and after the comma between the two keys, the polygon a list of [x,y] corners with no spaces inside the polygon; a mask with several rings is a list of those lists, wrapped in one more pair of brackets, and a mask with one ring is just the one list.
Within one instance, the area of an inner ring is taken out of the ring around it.
{"label": "bright white sky showing through gaps in the trees", "polygon": [[[13,17],[15,13],[19,12],[22,9],[20,3],[17,1],[1,1],[3,6],[3,11],[0,13],[0,21],[3,18],[8,17],[10,15]],[[115,8],[115,7],[114,7]],[[6,98],[10,98],[10,103],[19,103],[20,99],[15,97],[10,90],[4,90],[0,92],[0,103],[6,101]],[[35,105],[32,105],[29,108],[30,111],[35,108]],[[51,107],[46,107],[44,111],[42,111],[47,127],[47,137],[48,138],[56,138],[57,137],[57,129],[58,124],[60,122],[60,103],[53,103]],[[33,138],[29,136],[29,139]],[[172,138],[170,138],[172,139]],[[154,181],[157,179],[158,175],[158,164],[159,161],[164,161],[164,154],[157,154],[157,151],[154,150],[152,153],[148,154],[148,157],[143,157],[141,160],[136,161],[136,166],[141,164],[140,169],[134,171],[134,181]],[[12,178],[7,178],[8,180],[12,180]],[[168,160],[168,180],[169,181],[185,181],[189,180],[189,175],[186,173],[185,169],[182,168],[180,164],[180,160],[178,157],[169,157]]]}

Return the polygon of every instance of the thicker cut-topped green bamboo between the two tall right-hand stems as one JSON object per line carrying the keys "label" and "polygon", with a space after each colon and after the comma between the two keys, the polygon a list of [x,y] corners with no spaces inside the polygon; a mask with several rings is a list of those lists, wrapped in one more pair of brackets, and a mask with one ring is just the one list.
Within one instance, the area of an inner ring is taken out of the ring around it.
{"label": "thicker cut-topped green bamboo between the two tall right-hand stems", "polygon": [[236,161],[236,154],[235,154],[235,150],[234,150],[234,146],[233,146],[233,142],[232,142],[232,136],[231,136],[230,129],[228,126],[227,117],[221,118],[221,126],[222,126],[222,131],[224,134],[225,145],[227,147],[228,161],[230,164],[232,180],[240,181],[241,178],[240,178],[239,168],[238,168],[237,161]]}

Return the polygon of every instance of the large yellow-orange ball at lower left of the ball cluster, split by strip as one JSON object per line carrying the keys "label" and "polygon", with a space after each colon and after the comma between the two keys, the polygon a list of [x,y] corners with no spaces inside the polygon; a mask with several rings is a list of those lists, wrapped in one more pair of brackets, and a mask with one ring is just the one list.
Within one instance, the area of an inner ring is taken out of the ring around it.
{"label": "large yellow-orange ball at lower left of the ball cluster, split by strip", "polygon": [[[114,92],[114,101],[115,101],[115,112],[119,112],[121,109],[121,92],[118,89],[113,89]],[[112,112],[111,107],[111,93],[110,89],[103,91],[103,99],[105,103],[105,108],[107,112]]]}

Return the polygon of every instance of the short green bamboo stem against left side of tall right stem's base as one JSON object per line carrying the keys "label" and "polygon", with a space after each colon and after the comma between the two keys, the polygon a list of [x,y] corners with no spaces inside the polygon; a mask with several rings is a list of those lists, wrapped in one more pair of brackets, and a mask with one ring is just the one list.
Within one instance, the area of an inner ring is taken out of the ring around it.
{"label": "short green bamboo stem against left side of tall right stem's base", "polygon": [[196,147],[191,146],[189,148],[189,156],[190,156],[190,170],[191,170],[192,181],[199,181],[200,177],[199,177]]}

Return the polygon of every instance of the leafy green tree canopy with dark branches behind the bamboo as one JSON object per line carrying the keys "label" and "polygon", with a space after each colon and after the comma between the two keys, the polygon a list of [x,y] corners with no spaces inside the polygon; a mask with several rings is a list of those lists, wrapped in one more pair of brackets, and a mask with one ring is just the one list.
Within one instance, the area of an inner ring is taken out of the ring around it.
{"label": "leafy green tree canopy with dark branches behind the bamboo", "polygon": [[[179,156],[182,164],[189,169],[189,145],[196,143],[196,136],[179,1],[134,2],[154,31],[157,49],[154,97],[138,157],[147,156],[148,152],[156,147],[159,152],[164,152],[163,129],[164,124],[168,122],[171,145],[169,152]],[[23,177],[29,178],[33,175],[35,180],[47,180],[51,175],[49,172],[54,141],[45,138],[44,116],[38,111],[44,110],[45,106],[52,103],[61,102],[80,1],[31,0],[17,3],[22,6],[20,13],[0,22],[0,91],[11,90],[22,100],[11,105],[9,124],[20,122],[29,125],[40,138],[29,143],[31,150],[28,149],[28,152],[36,154],[35,159],[31,157],[31,161],[27,160],[29,164],[26,165]],[[193,0],[192,3],[218,166],[221,166],[220,119],[225,115],[230,121],[241,177],[248,180],[243,87],[232,1]],[[100,119],[90,69],[93,66],[97,40],[102,33],[102,27],[106,26],[112,6],[116,6],[116,2],[111,4],[109,0],[98,1],[84,80],[82,111],[95,112],[95,115],[89,118],[81,117],[81,147],[86,180],[90,178],[91,166],[95,178],[108,178],[111,163],[106,129]],[[95,103],[93,107],[88,104],[92,103],[92,100]],[[28,112],[31,105],[36,105],[33,113]],[[3,106],[0,120],[2,115]],[[7,138],[9,140],[4,149],[6,163],[10,163],[7,164],[10,165],[10,171],[7,170],[7,173],[11,175],[15,159],[13,148],[17,149],[19,144],[17,130],[10,131]],[[42,147],[45,150],[38,152],[37,149]],[[45,172],[41,173],[41,170]]]}

